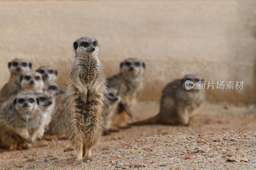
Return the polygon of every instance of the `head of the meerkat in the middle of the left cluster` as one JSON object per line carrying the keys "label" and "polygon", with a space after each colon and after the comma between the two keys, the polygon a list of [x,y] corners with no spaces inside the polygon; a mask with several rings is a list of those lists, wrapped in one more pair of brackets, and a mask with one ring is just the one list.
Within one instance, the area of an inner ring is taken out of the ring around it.
{"label": "head of the meerkat in the middle of the left cluster", "polygon": [[27,71],[20,76],[20,86],[22,90],[43,91],[44,78],[42,74],[35,71]]}

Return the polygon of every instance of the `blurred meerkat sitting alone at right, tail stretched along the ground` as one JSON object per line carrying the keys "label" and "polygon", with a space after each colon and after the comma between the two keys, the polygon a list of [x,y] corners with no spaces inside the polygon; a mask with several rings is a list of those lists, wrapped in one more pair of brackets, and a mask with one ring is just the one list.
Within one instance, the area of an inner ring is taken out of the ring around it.
{"label": "blurred meerkat sitting alone at right, tail stretched along the ground", "polygon": [[[187,80],[195,84],[193,89],[185,89]],[[193,112],[205,100],[204,90],[197,89],[199,81],[204,80],[197,75],[187,75],[183,79],[177,79],[167,84],[162,91],[159,114],[144,121],[134,122],[132,125],[159,123],[188,126]]]}

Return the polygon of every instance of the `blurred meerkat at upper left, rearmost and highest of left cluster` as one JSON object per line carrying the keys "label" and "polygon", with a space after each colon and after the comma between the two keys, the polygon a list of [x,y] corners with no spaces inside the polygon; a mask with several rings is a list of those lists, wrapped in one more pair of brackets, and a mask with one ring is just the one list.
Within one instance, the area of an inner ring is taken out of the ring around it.
{"label": "blurred meerkat at upper left, rearmost and highest of left cluster", "polygon": [[0,102],[4,101],[5,97],[8,98],[20,91],[20,76],[24,72],[30,71],[31,66],[32,64],[24,59],[14,59],[8,63],[11,77],[0,91]]}

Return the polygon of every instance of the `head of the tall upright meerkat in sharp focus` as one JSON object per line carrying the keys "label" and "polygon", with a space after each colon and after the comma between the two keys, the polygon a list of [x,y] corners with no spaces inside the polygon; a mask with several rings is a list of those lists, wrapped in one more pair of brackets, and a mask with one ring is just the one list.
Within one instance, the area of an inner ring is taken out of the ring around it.
{"label": "head of the tall upright meerkat in sharp focus", "polygon": [[98,41],[92,37],[81,37],[73,46],[77,55],[97,55],[100,49]]}

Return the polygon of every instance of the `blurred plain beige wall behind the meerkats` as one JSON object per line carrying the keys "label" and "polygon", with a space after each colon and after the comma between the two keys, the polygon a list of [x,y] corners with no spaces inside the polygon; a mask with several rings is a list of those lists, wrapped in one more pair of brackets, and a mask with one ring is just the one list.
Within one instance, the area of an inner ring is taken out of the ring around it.
{"label": "blurred plain beige wall behind the meerkats", "polygon": [[107,77],[125,58],[145,61],[143,100],[195,73],[245,81],[239,92],[208,90],[209,100],[254,102],[256,1],[1,1],[0,18],[0,86],[7,62],[26,58],[33,69],[56,66],[65,87],[72,43],[93,36]]}

